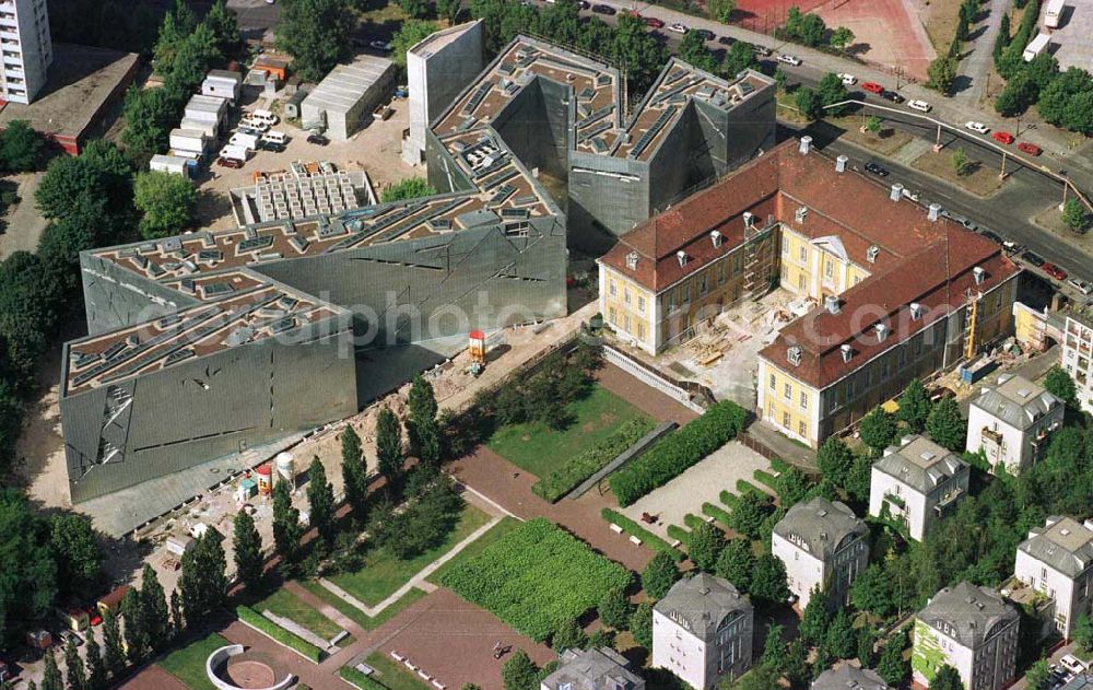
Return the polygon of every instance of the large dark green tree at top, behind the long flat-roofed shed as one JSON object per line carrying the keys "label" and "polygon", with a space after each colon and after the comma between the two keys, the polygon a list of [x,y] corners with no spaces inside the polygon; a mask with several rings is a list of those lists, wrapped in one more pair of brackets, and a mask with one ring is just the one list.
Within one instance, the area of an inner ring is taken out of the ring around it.
{"label": "large dark green tree at top, behind the long flat-roofed shed", "polygon": [[304,81],[318,82],[353,52],[353,0],[281,0],[277,46]]}

